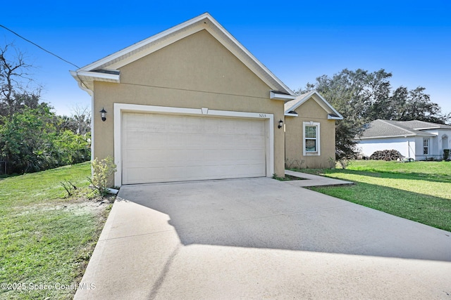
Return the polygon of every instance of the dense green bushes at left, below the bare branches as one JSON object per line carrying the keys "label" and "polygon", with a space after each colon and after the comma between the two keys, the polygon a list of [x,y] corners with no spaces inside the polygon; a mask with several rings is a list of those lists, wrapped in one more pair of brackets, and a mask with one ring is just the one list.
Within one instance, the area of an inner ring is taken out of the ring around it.
{"label": "dense green bushes at left, below the bare branches", "polygon": [[90,159],[90,135],[59,131],[47,103],[1,117],[0,159],[7,173],[30,173]]}

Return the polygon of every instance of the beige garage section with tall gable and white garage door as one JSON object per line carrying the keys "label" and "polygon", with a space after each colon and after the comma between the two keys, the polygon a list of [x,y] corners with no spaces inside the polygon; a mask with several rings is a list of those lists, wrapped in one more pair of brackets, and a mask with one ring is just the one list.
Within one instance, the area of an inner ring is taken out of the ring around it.
{"label": "beige garage section with tall gable and white garage door", "polygon": [[[208,13],[70,73],[92,95],[92,157],[114,157],[114,185],[285,174],[295,95]],[[327,123],[320,112],[307,120]]]}

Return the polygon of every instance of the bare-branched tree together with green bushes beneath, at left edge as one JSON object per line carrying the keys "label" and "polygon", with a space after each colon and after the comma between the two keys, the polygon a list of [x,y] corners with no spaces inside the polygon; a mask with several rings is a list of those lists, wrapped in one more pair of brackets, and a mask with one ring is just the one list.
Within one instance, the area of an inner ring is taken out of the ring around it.
{"label": "bare-branched tree together with green bushes beneath, at left edge", "polygon": [[[40,89],[28,72],[31,67],[13,44],[0,48],[0,160],[6,161],[7,173],[89,160],[87,110],[66,119],[56,116],[48,103],[40,101]],[[73,124],[72,130],[61,126],[66,121]]]}

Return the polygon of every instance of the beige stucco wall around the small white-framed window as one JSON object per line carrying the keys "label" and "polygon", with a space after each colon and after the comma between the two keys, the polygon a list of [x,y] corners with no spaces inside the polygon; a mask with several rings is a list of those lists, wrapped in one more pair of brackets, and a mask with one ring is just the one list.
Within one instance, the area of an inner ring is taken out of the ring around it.
{"label": "beige stucco wall around the small white-framed window", "polygon": [[[298,117],[285,117],[285,160],[287,167],[329,168],[329,157],[335,162],[335,120],[313,98],[297,107]],[[321,155],[304,156],[303,122],[320,123]]]}

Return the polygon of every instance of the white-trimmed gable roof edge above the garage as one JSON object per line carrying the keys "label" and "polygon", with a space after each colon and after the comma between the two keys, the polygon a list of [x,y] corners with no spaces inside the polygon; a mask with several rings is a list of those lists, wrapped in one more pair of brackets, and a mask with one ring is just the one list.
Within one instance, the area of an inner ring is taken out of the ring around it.
{"label": "white-trimmed gable roof edge above the garage", "polygon": [[227,30],[225,30],[209,13],[187,20],[168,30],[155,34],[152,37],[139,41],[121,51],[101,58],[94,63],[81,67],[70,74],[78,81],[81,89],[92,95],[94,81],[120,82],[121,73],[118,70],[135,60],[149,55],[159,49],[175,43],[184,37],[199,32],[208,31],[223,46],[233,53],[242,63],[249,67],[262,81],[273,90],[270,98],[278,100],[291,100],[295,98],[288,86],[283,84],[268,68],[255,58],[252,53],[240,44]]}

